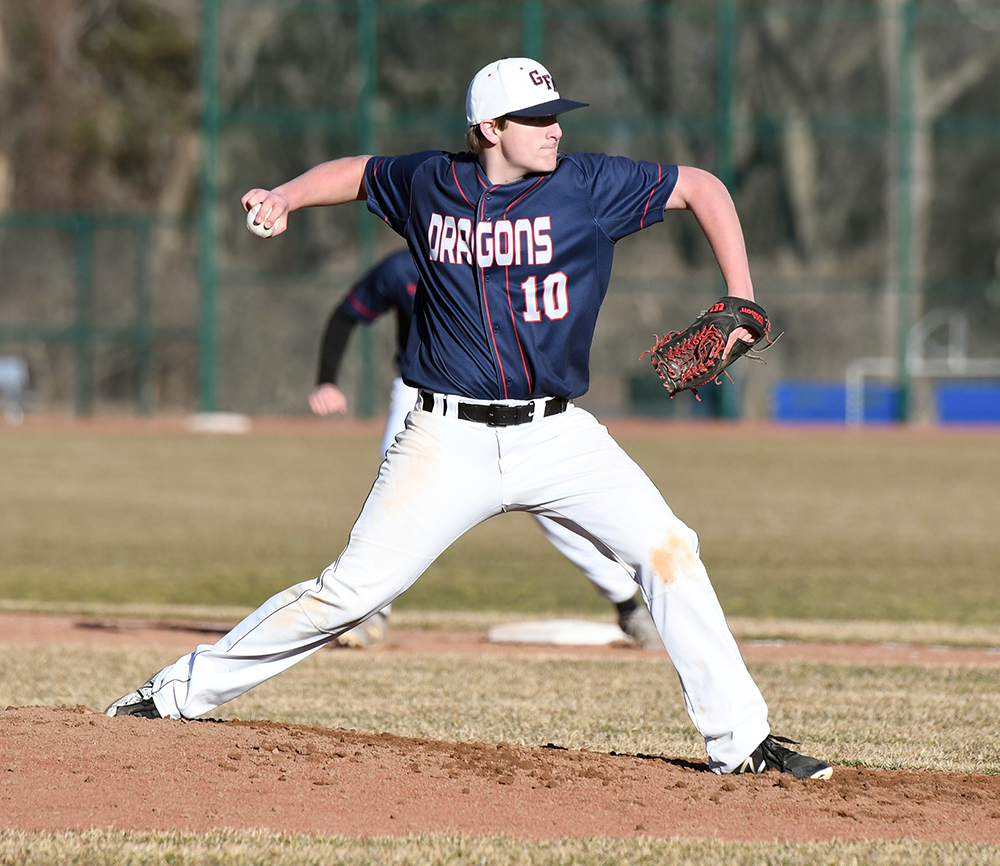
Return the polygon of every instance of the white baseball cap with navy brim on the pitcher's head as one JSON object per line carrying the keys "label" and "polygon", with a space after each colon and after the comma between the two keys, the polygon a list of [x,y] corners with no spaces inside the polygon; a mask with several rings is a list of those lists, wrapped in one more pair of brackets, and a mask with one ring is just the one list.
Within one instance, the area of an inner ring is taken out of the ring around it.
{"label": "white baseball cap with navy brim on the pitcher's head", "polygon": [[484,66],[469,85],[465,117],[469,126],[510,117],[548,117],[588,103],[562,99],[549,71],[529,57],[505,57]]}

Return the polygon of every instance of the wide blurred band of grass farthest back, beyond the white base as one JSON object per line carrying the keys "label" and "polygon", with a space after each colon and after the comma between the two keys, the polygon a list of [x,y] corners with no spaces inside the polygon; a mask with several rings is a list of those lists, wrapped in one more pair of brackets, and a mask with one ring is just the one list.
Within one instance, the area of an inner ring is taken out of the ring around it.
{"label": "wide blurred band of grass farthest back, beyond the white base", "polygon": [[[732,617],[1000,624],[1000,435],[618,438],[700,534]],[[336,558],[377,464],[374,435],[0,428],[0,598],[255,607]],[[460,539],[398,602],[606,608],[518,514]]]}

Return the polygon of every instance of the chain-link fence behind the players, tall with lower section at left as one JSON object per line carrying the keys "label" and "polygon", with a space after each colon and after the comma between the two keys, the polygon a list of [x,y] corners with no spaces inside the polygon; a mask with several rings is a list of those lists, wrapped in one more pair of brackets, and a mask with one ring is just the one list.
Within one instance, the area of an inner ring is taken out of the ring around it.
{"label": "chain-link fence behind the players, tall with lower section at left", "polygon": [[[700,406],[664,401],[640,353],[721,291],[697,225],[668,214],[619,244],[581,402],[765,418],[782,384],[844,383],[881,359],[871,375],[898,384],[891,412],[928,418],[942,377],[915,358],[1000,356],[995,4],[204,0],[200,15],[196,229],[100,228],[84,253],[67,228],[5,217],[0,354],[24,350],[43,403],[305,411],[326,315],[401,241],[359,204],[295,214],[261,242],[240,196],[336,156],[461,149],[471,75],[517,54],[591,104],[562,119],[564,149],[723,178],[758,299],[783,332],[765,365],[738,365],[737,387]],[[118,300],[102,308],[102,292]],[[961,345],[921,330],[956,317]],[[44,331],[55,325],[74,330]],[[342,384],[355,411],[378,413],[394,325],[362,331]]]}

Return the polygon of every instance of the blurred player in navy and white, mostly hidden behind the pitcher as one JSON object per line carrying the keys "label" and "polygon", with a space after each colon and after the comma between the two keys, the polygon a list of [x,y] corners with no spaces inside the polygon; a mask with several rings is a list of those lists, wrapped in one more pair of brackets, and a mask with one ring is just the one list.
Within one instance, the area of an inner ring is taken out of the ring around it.
{"label": "blurred player in navy and white, mostly hidden behind the pitcher", "polygon": [[[347,341],[359,322],[371,324],[390,310],[396,314],[396,370],[389,392],[389,414],[382,433],[382,457],[403,429],[407,413],[417,401],[417,389],[403,382],[398,371],[406,348],[417,292],[417,269],[409,250],[401,250],[383,259],[362,277],[337,305],[327,321],[320,345],[316,389],[309,395],[309,406],[317,415],[347,411],[347,398],[337,387],[340,364]],[[556,550],[576,565],[594,588],[618,611],[618,625],[643,649],[662,649],[663,642],[645,602],[636,591],[635,581],[613,554],[600,550],[575,532],[547,517],[535,516],[538,526]],[[389,631],[389,607],[369,617],[357,628],[337,638],[340,646],[365,647],[385,640]]]}

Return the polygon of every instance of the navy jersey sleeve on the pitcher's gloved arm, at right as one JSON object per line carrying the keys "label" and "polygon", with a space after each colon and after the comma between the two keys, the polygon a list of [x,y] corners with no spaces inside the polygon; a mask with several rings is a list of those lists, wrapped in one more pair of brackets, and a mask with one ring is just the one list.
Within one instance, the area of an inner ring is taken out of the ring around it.
{"label": "navy jersey sleeve on the pitcher's gloved arm, at right", "polygon": [[613,241],[658,223],[677,183],[677,166],[604,154],[571,154],[591,189],[594,220]]}

